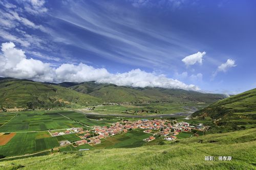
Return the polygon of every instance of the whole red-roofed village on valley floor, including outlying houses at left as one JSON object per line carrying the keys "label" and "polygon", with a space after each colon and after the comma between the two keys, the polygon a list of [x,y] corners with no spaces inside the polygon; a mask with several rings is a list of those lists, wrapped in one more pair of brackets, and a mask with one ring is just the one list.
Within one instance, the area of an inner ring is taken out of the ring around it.
{"label": "whole red-roofed village on valley floor, including outlying houses at left", "polygon": [[[144,133],[152,134],[152,136],[143,139],[145,142],[149,142],[155,139],[155,136],[161,136],[163,139],[171,141],[177,138],[177,135],[181,132],[191,132],[191,130],[203,131],[207,127],[203,124],[197,126],[189,125],[186,122],[178,123],[176,120],[166,119],[141,119],[135,122],[129,120],[122,120],[122,122],[113,123],[111,126],[93,126],[91,130],[84,130],[83,128],[69,128],[62,131],[49,131],[52,136],[60,136],[71,133],[81,139],[72,143],[74,147],[82,144],[95,145],[101,143],[101,139],[108,138],[120,133],[126,133],[134,129],[143,129]],[[196,135],[196,134],[195,134]],[[71,144],[68,140],[61,141],[60,146]]]}

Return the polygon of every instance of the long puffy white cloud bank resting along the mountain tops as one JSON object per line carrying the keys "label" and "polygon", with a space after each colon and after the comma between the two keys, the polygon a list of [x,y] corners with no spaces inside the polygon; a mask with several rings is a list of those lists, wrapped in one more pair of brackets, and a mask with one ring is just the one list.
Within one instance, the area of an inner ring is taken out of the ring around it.
{"label": "long puffy white cloud bank resting along the mountain tops", "polygon": [[0,76],[2,77],[42,82],[84,82],[94,80],[98,83],[113,83],[122,86],[200,90],[198,86],[187,85],[181,81],[167,78],[165,75],[157,75],[154,72],[146,72],[140,69],[111,74],[105,68],[95,68],[83,63],[78,65],[62,64],[54,68],[49,63],[33,58],[28,59],[25,52],[18,50],[13,42],[2,43],[1,50]]}

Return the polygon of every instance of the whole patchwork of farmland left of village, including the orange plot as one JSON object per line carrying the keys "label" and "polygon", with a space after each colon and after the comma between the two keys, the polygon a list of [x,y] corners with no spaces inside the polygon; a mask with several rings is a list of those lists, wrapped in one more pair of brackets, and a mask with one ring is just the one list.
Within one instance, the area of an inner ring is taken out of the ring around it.
{"label": "whole patchwork of farmland left of village, including the orange plot", "polygon": [[[80,140],[76,134],[52,137],[49,130],[63,132],[67,128],[84,126],[84,129],[91,129],[90,126],[108,126],[116,119],[90,119],[73,111],[24,111],[0,113],[0,122],[3,123],[0,127],[0,155],[10,157],[50,150],[59,147],[63,140]],[[84,149],[86,145],[70,150]]]}

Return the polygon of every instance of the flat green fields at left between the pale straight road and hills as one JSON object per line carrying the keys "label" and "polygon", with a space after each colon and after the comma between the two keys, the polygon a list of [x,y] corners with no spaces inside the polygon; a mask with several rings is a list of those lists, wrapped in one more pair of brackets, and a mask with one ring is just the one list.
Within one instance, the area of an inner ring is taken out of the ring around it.
{"label": "flat green fields at left between the pale straight road and hills", "polygon": [[[0,117],[0,121],[10,118],[5,115]],[[0,132],[46,131],[81,126],[54,111],[27,111],[18,112],[11,121],[0,127]]]}

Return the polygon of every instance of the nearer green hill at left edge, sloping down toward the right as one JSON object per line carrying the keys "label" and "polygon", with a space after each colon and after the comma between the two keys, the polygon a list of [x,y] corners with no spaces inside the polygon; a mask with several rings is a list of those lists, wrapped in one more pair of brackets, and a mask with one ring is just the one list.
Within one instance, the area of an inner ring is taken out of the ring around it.
{"label": "nearer green hill at left edge, sloping down toward the right", "polygon": [[0,96],[0,107],[7,109],[83,106],[101,101],[69,88],[15,79],[0,81]]}

